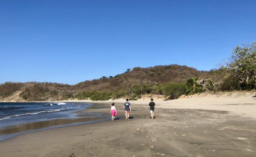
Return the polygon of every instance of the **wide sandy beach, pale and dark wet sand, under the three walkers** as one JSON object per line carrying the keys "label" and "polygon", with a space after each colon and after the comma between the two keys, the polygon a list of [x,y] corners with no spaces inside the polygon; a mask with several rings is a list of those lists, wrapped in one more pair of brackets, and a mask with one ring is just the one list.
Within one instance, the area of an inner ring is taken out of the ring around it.
{"label": "wide sandy beach, pale and dark wet sand, under the three walkers", "polygon": [[[74,100],[76,101],[76,100]],[[88,102],[88,101],[87,101]],[[22,134],[0,142],[3,157],[255,157],[256,94],[238,97],[194,96],[156,100],[150,119],[149,100],[95,103],[85,112],[118,115],[112,122],[65,126]]]}

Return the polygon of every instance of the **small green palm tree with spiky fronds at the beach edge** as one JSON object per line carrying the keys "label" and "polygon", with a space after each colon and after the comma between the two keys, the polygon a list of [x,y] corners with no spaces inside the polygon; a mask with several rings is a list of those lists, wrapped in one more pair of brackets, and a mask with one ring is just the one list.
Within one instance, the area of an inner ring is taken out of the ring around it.
{"label": "small green palm tree with spiky fronds at the beach edge", "polygon": [[197,79],[195,79],[194,77],[186,80],[185,86],[187,95],[193,95],[196,93],[201,93],[203,91],[203,86],[197,83]]}

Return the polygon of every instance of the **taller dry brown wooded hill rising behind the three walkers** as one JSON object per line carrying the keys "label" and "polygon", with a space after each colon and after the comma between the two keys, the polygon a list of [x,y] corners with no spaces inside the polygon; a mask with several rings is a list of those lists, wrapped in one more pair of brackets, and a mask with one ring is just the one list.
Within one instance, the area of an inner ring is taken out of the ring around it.
{"label": "taller dry brown wooded hill rising behind the three walkers", "polygon": [[156,85],[157,83],[167,82],[184,83],[189,77],[202,77],[205,74],[207,74],[207,71],[198,71],[191,67],[179,65],[154,66],[149,68],[136,67],[131,71],[128,69],[123,74],[84,81],[75,86],[78,90],[119,91],[138,84]]}

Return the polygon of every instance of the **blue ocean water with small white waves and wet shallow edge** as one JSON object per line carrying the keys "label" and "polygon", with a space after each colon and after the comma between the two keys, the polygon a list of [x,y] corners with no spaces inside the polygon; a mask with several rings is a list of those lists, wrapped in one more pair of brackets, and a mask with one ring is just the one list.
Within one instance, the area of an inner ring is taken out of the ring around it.
{"label": "blue ocean water with small white waves and wet shallow edge", "polygon": [[0,103],[0,141],[20,133],[87,121],[101,115],[79,113],[90,103]]}

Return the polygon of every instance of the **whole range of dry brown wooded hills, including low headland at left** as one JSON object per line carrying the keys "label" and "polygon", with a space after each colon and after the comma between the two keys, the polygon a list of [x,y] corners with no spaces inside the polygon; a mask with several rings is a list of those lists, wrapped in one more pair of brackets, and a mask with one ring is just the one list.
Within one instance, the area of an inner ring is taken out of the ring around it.
{"label": "whole range of dry brown wooded hills, including low headland at left", "polygon": [[76,85],[60,83],[11,83],[0,85],[0,101],[53,101],[75,98],[84,91],[126,90],[134,85],[177,82],[184,83],[189,77],[204,77],[207,71],[179,65],[136,67],[123,74],[87,80]]}

